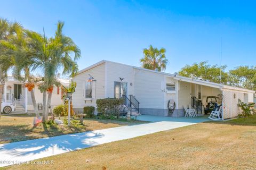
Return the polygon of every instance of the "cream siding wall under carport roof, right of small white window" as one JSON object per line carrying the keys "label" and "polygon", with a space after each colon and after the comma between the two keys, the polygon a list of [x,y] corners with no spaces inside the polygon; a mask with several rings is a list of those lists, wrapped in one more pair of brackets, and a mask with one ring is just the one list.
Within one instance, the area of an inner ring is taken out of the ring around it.
{"label": "cream siding wall under carport roof, right of small white window", "polygon": [[179,81],[179,92],[178,92],[178,100],[179,100],[179,107],[183,108],[187,106],[191,102],[191,83],[185,81]]}

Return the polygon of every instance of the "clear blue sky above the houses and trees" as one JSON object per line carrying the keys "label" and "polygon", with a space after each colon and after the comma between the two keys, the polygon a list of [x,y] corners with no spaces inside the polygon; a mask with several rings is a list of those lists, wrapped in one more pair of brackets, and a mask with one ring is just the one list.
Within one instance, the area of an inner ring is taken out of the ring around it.
{"label": "clear blue sky above the houses and trees", "polygon": [[255,65],[254,1],[1,1],[0,17],[53,36],[58,20],[81,48],[79,69],[101,60],[140,66],[142,49],[166,48],[166,72],[208,60]]}

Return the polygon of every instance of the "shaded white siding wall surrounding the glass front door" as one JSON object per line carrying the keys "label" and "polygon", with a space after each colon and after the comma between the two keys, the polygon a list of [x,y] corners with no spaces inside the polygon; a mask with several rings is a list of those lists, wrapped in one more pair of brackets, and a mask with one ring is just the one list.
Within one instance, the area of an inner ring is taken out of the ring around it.
{"label": "shaded white siding wall surrounding the glass front door", "polygon": [[[134,95],[134,69],[131,66],[106,62],[107,90],[106,97],[114,98],[114,82],[127,82],[127,95]],[[132,83],[132,86],[131,86]]]}

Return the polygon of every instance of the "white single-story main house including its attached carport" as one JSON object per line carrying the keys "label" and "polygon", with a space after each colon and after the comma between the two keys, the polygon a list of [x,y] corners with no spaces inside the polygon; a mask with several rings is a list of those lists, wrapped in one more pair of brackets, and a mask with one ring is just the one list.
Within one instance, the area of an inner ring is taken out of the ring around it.
{"label": "white single-story main house including its attached carport", "polygon": [[[88,82],[90,76],[96,81]],[[226,119],[238,115],[238,98],[245,103],[252,102],[255,92],[110,61],[100,61],[79,71],[73,80],[77,83],[73,107],[79,112],[84,106],[96,107],[97,99],[125,95],[141,114],[168,116],[169,100],[175,102],[172,116],[183,116],[183,106],[188,105],[203,114],[204,107],[198,103],[206,106],[207,96],[222,94],[223,100],[218,103],[222,104],[222,118]]]}

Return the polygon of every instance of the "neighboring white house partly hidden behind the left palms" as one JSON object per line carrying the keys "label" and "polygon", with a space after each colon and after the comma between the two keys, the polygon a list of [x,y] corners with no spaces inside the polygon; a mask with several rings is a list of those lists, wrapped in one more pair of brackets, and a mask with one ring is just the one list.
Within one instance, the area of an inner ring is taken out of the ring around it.
{"label": "neighboring white house partly hidden behind the left palms", "polygon": [[[59,79],[61,86],[68,87],[69,80]],[[33,111],[33,103],[30,92],[23,86],[23,82],[15,80],[12,76],[8,76],[3,87],[2,101],[7,103],[15,103],[17,105],[16,111]],[[38,84],[35,84],[35,98],[37,105],[43,103],[43,93],[38,89]],[[60,87],[53,88],[51,105],[60,105],[62,101],[63,91]]]}

